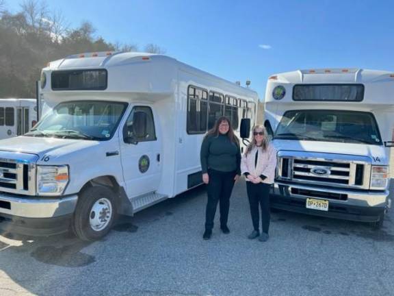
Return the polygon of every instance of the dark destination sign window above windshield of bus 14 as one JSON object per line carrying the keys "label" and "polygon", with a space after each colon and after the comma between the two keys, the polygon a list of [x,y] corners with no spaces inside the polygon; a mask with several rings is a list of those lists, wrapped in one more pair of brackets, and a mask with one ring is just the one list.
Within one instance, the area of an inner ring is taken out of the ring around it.
{"label": "dark destination sign window above windshield of bus 14", "polygon": [[299,84],[293,88],[294,101],[363,101],[363,84]]}

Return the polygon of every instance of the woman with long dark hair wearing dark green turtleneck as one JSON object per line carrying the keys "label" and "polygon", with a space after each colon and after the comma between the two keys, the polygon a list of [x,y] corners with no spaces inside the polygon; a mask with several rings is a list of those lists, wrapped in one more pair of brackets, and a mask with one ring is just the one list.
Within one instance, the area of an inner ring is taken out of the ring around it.
{"label": "woman with long dark hair wearing dark green turtleneck", "polygon": [[241,175],[241,151],[231,122],[220,117],[202,141],[201,145],[202,181],[207,184],[207,209],[205,213],[205,240],[211,238],[213,219],[220,202],[220,229],[224,234],[227,226],[230,196],[235,181]]}

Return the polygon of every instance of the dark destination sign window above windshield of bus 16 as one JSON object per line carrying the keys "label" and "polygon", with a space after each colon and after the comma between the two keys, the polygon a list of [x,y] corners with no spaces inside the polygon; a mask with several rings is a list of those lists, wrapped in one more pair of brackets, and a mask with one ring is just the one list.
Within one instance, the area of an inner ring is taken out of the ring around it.
{"label": "dark destination sign window above windshield of bus 16", "polygon": [[51,74],[53,90],[105,90],[107,88],[107,71],[73,70],[55,71]]}

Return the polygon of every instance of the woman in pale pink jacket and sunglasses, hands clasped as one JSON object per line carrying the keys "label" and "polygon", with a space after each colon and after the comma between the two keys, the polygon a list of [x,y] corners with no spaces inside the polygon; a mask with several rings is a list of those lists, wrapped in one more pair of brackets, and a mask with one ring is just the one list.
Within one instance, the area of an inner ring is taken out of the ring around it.
{"label": "woman in pale pink jacket and sunglasses, hands clasped", "polygon": [[[268,239],[270,227],[270,187],[274,183],[276,168],[276,150],[268,142],[265,128],[256,125],[253,138],[241,159],[241,173],[246,178],[250,214],[254,230],[248,238],[259,236],[260,241]],[[259,231],[259,205],[261,207],[261,226]]]}

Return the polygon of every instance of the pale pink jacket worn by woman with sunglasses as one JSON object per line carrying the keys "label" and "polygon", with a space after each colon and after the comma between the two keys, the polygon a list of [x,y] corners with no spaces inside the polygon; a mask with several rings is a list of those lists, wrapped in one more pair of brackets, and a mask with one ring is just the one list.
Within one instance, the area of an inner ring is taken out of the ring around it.
{"label": "pale pink jacket worn by woman with sunglasses", "polygon": [[[257,155],[257,165],[254,166],[256,151],[259,151],[259,154]],[[271,144],[268,144],[265,151],[262,151],[260,147],[254,147],[248,154],[244,153],[241,158],[241,173],[248,172],[255,176],[265,175],[267,177],[263,180],[265,184],[274,183],[275,169],[276,149]],[[247,178],[246,181],[250,182]]]}

